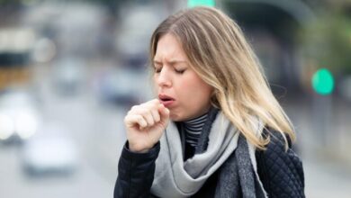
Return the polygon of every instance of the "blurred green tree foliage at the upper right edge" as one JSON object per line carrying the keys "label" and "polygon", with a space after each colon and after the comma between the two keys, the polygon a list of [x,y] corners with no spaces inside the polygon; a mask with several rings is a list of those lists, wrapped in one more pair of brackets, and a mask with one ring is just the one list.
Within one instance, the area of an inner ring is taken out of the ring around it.
{"label": "blurred green tree foliage at the upper right edge", "polygon": [[320,14],[302,30],[302,49],[317,67],[351,75],[351,19],[342,12]]}

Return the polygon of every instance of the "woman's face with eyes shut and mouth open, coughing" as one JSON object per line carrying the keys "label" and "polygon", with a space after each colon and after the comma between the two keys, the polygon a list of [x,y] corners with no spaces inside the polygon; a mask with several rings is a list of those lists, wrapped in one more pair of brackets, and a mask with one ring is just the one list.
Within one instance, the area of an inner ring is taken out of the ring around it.
{"label": "woman's face with eyes shut and mouth open, coughing", "polygon": [[158,99],[169,109],[172,121],[186,121],[209,110],[212,88],[190,67],[172,34],[158,40],[154,67]]}

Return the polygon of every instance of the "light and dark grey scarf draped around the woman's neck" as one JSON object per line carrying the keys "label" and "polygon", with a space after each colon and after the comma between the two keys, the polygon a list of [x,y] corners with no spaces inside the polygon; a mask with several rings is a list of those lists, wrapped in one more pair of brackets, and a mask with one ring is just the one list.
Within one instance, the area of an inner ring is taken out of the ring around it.
{"label": "light and dark grey scarf draped around the woman's neck", "polygon": [[[208,136],[207,147],[196,148],[195,155],[184,161],[180,133],[174,122],[168,124],[160,139],[151,193],[158,197],[189,197],[220,168],[215,197],[266,197],[257,175],[255,148],[221,112],[204,128],[208,129],[203,131]],[[262,131],[261,121],[257,120],[255,129]]]}

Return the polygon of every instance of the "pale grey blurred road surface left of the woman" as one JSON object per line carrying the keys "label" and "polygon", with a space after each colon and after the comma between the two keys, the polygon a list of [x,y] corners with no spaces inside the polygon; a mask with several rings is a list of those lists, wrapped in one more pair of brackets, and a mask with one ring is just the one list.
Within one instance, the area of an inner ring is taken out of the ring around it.
{"label": "pale grey blurred road surface left of the woman", "polygon": [[49,76],[40,76],[44,117],[59,121],[78,147],[78,166],[72,175],[28,175],[23,150],[0,145],[0,197],[112,197],[116,167],[124,133],[119,109],[98,110],[88,89],[74,98],[58,98]]}

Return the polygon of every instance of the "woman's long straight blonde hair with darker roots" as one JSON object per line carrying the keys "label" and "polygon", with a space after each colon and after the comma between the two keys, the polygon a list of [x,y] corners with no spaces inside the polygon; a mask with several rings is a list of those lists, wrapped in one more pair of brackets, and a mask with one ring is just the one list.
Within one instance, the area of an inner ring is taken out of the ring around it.
{"label": "woman's long straight blonde hair with darker roots", "polygon": [[293,125],[275,99],[258,58],[238,24],[220,10],[194,7],[160,23],[151,37],[150,60],[166,33],[182,44],[193,70],[214,89],[211,103],[220,108],[245,138],[265,148],[269,136],[257,135],[253,115],[266,127],[295,139]]}

